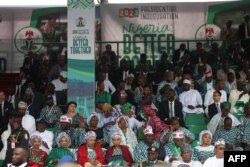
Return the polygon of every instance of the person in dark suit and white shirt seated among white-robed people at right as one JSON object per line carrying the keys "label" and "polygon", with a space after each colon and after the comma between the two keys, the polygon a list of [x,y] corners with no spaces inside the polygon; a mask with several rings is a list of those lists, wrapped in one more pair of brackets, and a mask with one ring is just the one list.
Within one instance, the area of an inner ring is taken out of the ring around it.
{"label": "person in dark suit and white shirt seated among white-robed people at right", "polygon": [[214,103],[210,104],[205,110],[206,115],[210,119],[213,118],[213,116],[216,115],[217,113],[221,112],[221,108],[220,108],[221,92],[218,90],[215,90],[213,93],[213,99],[214,99]]}

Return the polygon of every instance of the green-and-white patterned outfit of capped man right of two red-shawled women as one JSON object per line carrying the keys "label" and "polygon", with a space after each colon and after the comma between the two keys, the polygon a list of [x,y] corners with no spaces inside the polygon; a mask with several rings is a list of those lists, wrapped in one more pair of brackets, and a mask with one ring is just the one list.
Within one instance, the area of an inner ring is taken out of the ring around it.
{"label": "green-and-white patterned outfit of capped man right of two red-shawled women", "polygon": [[[154,141],[151,146],[154,146],[156,148],[159,148],[160,144],[157,141]],[[146,144],[144,141],[139,142],[134,150],[134,161],[135,162],[141,162],[141,161],[147,161],[148,160],[148,148],[150,146]]]}

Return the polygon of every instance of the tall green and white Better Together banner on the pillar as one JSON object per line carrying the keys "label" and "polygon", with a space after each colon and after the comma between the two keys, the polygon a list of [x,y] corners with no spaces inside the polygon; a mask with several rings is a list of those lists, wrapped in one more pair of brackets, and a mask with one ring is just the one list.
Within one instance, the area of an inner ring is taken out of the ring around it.
{"label": "tall green and white Better Together banner on the pillar", "polygon": [[68,101],[85,118],[95,109],[94,29],[94,1],[68,0]]}

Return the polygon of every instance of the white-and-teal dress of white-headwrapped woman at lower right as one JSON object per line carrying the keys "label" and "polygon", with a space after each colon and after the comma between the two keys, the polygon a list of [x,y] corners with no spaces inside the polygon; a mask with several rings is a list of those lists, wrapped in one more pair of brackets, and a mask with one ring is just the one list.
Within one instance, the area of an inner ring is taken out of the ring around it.
{"label": "white-and-teal dress of white-headwrapped woman at lower right", "polygon": [[214,146],[210,145],[208,147],[196,146],[194,148],[195,155],[198,160],[204,162],[209,157],[214,156]]}

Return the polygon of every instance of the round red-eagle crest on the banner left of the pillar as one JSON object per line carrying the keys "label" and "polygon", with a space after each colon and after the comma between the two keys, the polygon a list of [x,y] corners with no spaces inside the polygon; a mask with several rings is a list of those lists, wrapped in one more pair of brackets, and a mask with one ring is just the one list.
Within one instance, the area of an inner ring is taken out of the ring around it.
{"label": "round red-eagle crest on the banner left of the pillar", "polygon": [[42,33],[34,27],[24,27],[20,29],[14,38],[16,49],[24,54],[32,51],[38,52],[43,44]]}

